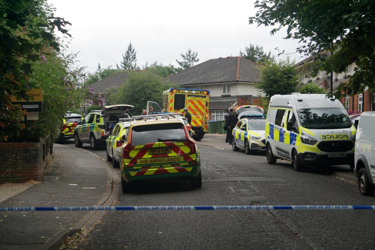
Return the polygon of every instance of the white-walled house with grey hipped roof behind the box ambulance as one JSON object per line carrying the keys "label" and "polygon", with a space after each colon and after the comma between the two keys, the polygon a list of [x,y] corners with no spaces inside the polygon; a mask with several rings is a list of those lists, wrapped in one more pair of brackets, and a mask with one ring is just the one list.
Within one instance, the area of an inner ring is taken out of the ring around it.
{"label": "white-walled house with grey hipped roof behind the box ambulance", "polygon": [[168,80],[181,88],[210,90],[209,120],[224,120],[235,105],[258,105],[259,64],[242,57],[219,57],[197,64]]}

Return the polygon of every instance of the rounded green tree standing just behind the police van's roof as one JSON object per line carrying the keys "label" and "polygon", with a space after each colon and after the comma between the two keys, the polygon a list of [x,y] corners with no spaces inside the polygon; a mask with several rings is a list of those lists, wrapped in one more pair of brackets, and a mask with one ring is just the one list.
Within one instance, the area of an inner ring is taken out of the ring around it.
{"label": "rounded green tree standing just behind the police van's roof", "polygon": [[291,94],[299,85],[297,68],[294,61],[285,60],[269,61],[261,66],[261,82],[256,88],[263,91],[267,98],[275,94]]}

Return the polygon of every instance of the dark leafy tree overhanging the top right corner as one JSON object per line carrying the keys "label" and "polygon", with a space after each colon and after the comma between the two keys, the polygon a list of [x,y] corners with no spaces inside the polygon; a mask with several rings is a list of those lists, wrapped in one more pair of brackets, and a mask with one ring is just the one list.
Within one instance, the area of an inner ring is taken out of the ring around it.
{"label": "dark leafy tree overhanging the top right corner", "polygon": [[[329,11],[322,11],[324,9]],[[365,87],[375,91],[375,6],[373,1],[261,0],[249,24],[278,25],[270,33],[287,27],[286,39],[299,40],[297,52],[315,55],[314,72],[344,72],[355,63],[355,73],[342,83],[335,96],[362,93]],[[327,56],[324,52],[332,52]],[[332,94],[332,93],[330,93]]]}

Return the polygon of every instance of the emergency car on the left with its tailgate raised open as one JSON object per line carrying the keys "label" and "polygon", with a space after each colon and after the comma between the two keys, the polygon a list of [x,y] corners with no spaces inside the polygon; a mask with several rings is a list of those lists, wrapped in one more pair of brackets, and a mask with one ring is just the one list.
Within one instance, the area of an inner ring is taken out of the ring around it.
{"label": "emergency car on the left with its tailgate raised open", "polygon": [[74,144],[82,147],[83,143],[89,143],[92,150],[96,150],[99,145],[104,145],[108,138],[107,133],[111,132],[120,118],[130,118],[129,110],[132,105],[116,104],[104,106],[103,110],[93,110],[78,122],[74,130]]}

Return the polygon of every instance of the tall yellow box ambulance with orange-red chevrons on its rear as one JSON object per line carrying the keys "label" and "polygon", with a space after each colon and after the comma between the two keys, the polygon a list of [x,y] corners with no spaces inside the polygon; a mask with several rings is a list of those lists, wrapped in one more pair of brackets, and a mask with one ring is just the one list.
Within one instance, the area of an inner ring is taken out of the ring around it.
{"label": "tall yellow box ambulance with orange-red chevrons on its rear", "polygon": [[193,137],[200,141],[207,132],[209,90],[195,90],[188,88],[170,88],[163,92],[163,108],[156,102],[147,102],[147,110],[151,107],[154,112],[183,113],[188,108],[191,115],[191,126],[195,132]]}

